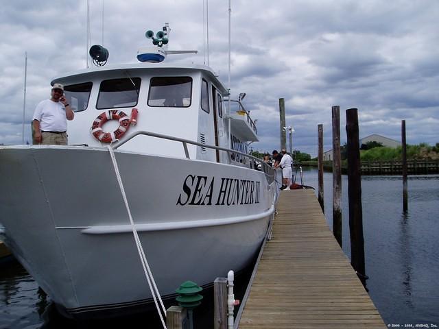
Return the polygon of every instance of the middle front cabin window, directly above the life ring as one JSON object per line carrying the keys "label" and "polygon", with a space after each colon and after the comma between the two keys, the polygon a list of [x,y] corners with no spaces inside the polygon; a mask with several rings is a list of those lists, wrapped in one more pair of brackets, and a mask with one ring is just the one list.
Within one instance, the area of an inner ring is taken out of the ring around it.
{"label": "middle front cabin window, directly above the life ring", "polygon": [[104,80],[99,87],[96,108],[130,108],[139,101],[141,78]]}

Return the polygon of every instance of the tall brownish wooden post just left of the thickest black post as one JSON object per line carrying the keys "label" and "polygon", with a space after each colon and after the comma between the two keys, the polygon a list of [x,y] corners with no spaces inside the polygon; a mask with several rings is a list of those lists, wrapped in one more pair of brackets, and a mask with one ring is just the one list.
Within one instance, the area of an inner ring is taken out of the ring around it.
{"label": "tall brownish wooden post just left of the thickest black post", "polygon": [[333,234],[342,247],[342,154],[340,151],[340,106],[332,107],[332,226]]}

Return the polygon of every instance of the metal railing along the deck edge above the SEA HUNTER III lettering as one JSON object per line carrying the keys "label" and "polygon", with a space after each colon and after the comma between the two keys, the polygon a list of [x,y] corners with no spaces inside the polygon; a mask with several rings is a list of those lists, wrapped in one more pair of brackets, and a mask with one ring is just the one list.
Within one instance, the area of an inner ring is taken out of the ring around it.
{"label": "metal railing along the deck edge above the SEA HUNTER III lettering", "polygon": [[263,173],[265,173],[265,175],[267,176],[268,182],[271,183],[274,181],[274,169],[272,167],[270,167],[269,164],[263,162],[263,160],[261,160],[260,158],[252,156],[250,154],[242,153],[240,151],[235,151],[234,149],[226,149],[224,147],[219,147],[219,146],[215,146],[215,145],[202,144],[202,143],[190,141],[189,139],[185,139],[185,138],[178,138],[178,137],[174,137],[174,136],[157,134],[155,132],[147,132],[145,130],[139,130],[138,132],[134,132],[134,133],[126,136],[126,138],[123,138],[123,141],[116,141],[115,143],[112,143],[111,147],[112,147],[112,149],[117,149],[118,147],[122,146],[123,144],[127,143],[128,141],[131,141],[132,138],[139,136],[139,135],[151,136],[151,137],[155,137],[155,138],[167,139],[168,141],[180,142],[180,143],[182,143],[183,149],[185,150],[185,156],[189,160],[191,159],[191,157],[189,156],[189,149],[187,148],[188,144],[199,146],[199,147],[206,147],[208,149],[215,149],[218,151],[224,151],[228,155],[228,163],[229,164],[233,163],[232,162],[232,154],[235,154],[235,155],[239,154],[241,156],[245,156],[246,158],[252,160],[252,161],[249,161],[251,169],[259,170],[259,169],[257,169],[257,167],[258,167],[258,164],[260,163],[261,164],[261,171],[263,171]]}

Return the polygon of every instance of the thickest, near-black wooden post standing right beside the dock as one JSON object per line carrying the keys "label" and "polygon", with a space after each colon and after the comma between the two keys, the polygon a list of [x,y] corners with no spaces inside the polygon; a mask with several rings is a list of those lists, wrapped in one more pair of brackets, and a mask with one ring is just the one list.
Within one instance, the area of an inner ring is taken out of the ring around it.
{"label": "thickest, near-black wooden post standing right beside the dock", "polygon": [[349,231],[351,235],[351,265],[366,287],[364,265],[363,209],[361,206],[361,173],[359,162],[358,110],[346,110],[346,134],[348,139],[348,203]]}

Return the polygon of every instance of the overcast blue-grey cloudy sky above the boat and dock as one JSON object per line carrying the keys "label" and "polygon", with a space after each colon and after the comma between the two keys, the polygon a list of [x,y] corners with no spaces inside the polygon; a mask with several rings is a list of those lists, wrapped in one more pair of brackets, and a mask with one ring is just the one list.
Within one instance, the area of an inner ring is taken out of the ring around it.
{"label": "overcast blue-grey cloudy sky above the boat and dock", "polygon": [[[109,63],[137,62],[147,29],[169,22],[169,49],[203,54],[203,0],[89,0],[91,44]],[[25,51],[25,141],[51,78],[86,66],[86,0],[2,1],[0,143],[21,144]],[[205,6],[205,4],[204,4]],[[209,64],[227,85],[228,1],[209,0]],[[103,10],[102,10],[103,8]],[[103,19],[102,19],[103,18]],[[331,149],[331,106],[339,105],[342,143],[347,108],[359,109],[360,136],[439,142],[439,1],[232,0],[232,95],[246,93],[258,119],[261,151],[279,148],[278,99],[285,98],[294,149],[317,153],[317,125]],[[102,34],[102,25],[104,33]],[[183,62],[182,57],[170,60]],[[288,139],[287,139],[288,141]]]}

